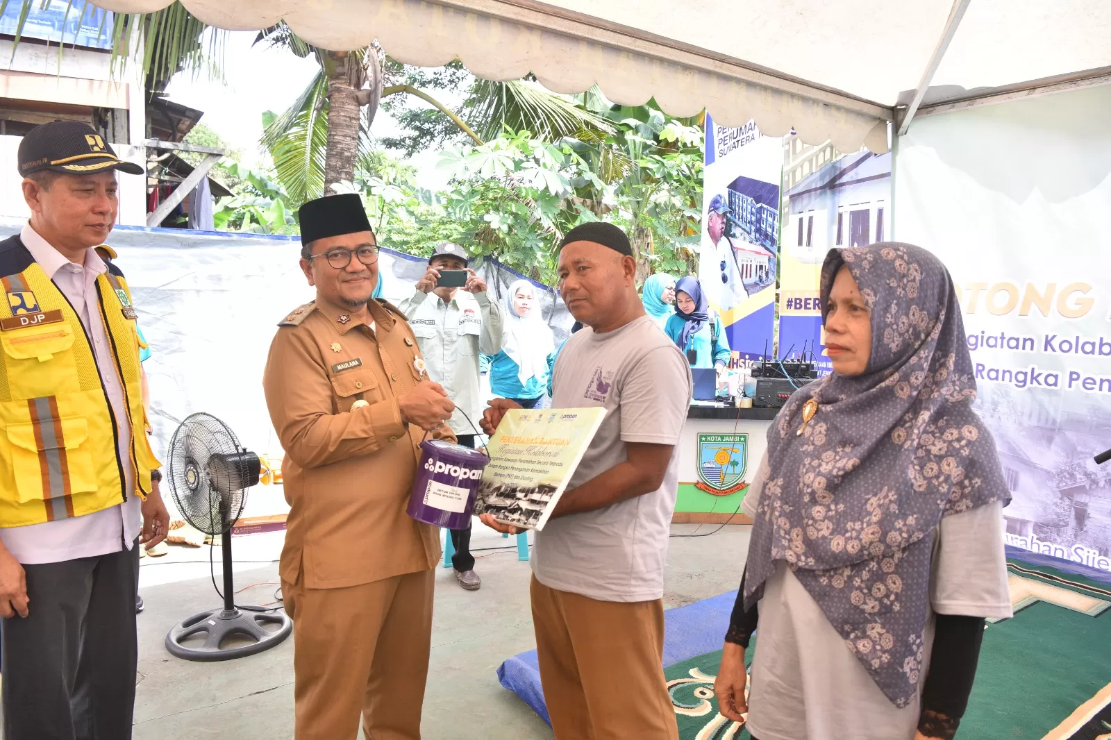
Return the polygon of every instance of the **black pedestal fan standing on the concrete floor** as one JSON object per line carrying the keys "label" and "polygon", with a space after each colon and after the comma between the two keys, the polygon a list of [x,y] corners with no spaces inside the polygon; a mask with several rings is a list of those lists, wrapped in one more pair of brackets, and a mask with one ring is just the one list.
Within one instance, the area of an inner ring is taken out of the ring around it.
{"label": "black pedestal fan standing on the concrete floor", "polygon": [[[237,607],[231,573],[231,527],[243,511],[247,489],[259,482],[259,456],[241,448],[236,434],[216,417],[193,413],[173,432],[168,457],[166,480],[181,516],[206,534],[220,534],[223,608],[177,624],[166,636],[166,649],[186,660],[230,660],[274,647],[289,637],[293,623],[280,610]],[[278,628],[268,630],[264,624]],[[191,644],[202,633],[203,642]],[[224,647],[233,637],[253,642]]]}

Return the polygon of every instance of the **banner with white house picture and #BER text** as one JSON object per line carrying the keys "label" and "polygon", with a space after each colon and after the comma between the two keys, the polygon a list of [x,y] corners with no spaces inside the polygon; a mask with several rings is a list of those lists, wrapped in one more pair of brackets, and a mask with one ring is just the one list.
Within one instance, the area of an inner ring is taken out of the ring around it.
{"label": "banner with white house picture and #BER text", "polygon": [[779,356],[812,353],[824,373],[832,368],[822,343],[822,261],[833,247],[890,238],[891,154],[847,154],[829,141],[812,147],[792,133],[783,142],[783,189]]}

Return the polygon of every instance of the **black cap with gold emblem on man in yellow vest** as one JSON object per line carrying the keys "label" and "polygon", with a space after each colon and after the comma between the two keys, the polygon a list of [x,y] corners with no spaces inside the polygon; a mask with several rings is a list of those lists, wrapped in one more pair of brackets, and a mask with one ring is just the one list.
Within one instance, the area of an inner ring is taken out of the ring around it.
{"label": "black cap with gold emblem on man in yellow vest", "polygon": [[120,170],[142,174],[143,168],[116,156],[97,130],[81,121],[51,121],[27,132],[19,142],[19,174],[51,170],[88,174]]}

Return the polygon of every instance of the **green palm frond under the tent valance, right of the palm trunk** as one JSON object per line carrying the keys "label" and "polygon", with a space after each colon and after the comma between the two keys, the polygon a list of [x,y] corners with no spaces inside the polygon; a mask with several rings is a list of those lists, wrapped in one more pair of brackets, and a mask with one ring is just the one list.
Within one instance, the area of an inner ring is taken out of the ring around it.
{"label": "green palm frond under the tent valance, right of the palm trunk", "polygon": [[547,141],[581,132],[604,137],[615,130],[601,116],[528,80],[478,80],[468,106],[471,107],[469,118],[483,139],[496,138],[506,128],[530,131]]}

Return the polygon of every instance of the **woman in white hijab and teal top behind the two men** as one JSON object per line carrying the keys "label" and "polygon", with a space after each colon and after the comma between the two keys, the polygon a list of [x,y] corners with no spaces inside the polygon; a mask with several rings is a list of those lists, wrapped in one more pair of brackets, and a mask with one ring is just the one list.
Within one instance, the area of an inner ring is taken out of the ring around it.
{"label": "woman in white hijab and teal top behind the two men", "polygon": [[494,396],[531,409],[548,388],[548,368],[556,351],[552,330],[540,314],[537,289],[518,280],[506,293],[506,329],[502,349],[490,362],[490,390]]}

